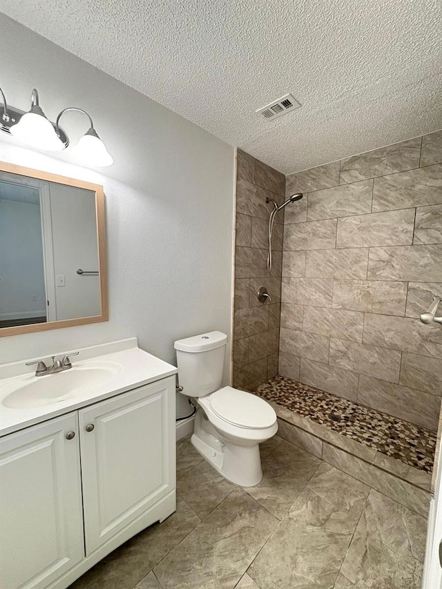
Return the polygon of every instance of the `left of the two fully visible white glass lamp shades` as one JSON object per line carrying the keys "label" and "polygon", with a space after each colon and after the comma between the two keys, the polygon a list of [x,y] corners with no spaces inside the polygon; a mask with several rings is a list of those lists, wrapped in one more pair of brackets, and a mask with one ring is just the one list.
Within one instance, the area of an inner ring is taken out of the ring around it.
{"label": "left of the two fully visible white glass lamp shades", "polygon": [[38,106],[32,106],[29,113],[21,117],[18,123],[10,128],[11,135],[17,137],[23,143],[26,143],[37,149],[45,151],[61,151],[65,148],[61,139],[55,133],[55,128],[45,117],[43,111]]}

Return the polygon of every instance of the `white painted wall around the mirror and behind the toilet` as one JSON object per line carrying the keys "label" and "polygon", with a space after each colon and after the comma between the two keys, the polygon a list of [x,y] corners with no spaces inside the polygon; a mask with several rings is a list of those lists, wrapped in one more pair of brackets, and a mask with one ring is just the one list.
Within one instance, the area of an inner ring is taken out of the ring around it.
{"label": "white painted wall around the mirror and behind the toilet", "polygon": [[[92,171],[0,137],[0,160],[104,185],[110,293],[108,322],[1,338],[1,361],[137,336],[173,363],[175,339],[230,334],[233,147],[3,15],[0,55],[10,104],[27,110],[35,86],[52,118],[88,110],[115,160]],[[87,122],[62,126],[75,142]]]}

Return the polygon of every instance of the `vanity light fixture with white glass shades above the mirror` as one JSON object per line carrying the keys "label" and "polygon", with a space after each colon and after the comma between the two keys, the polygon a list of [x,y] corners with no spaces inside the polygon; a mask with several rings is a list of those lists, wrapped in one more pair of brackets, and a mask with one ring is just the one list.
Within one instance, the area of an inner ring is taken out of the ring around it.
{"label": "vanity light fixture with white glass shades above the mirror", "polygon": [[77,110],[84,113],[90,122],[90,128],[79,139],[72,153],[76,159],[84,164],[96,167],[111,166],[113,158],[108,153],[102,139],[97,135],[92,119],[86,110],[82,108],[69,107],[61,110],[57,116],[56,123],[50,122],[39,106],[39,94],[34,88],[31,93],[31,108],[28,113],[8,106],[3,90],[0,88],[0,95],[3,98],[3,115],[0,119],[0,130],[17,137],[21,142],[44,151],[63,151],[69,145],[69,139],[63,129],[59,126],[61,115],[68,110]]}

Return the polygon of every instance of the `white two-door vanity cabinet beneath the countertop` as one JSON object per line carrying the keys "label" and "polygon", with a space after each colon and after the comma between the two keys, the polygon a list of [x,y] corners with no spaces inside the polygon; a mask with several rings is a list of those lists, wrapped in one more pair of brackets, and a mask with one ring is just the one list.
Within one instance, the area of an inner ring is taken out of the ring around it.
{"label": "white two-door vanity cabinet beneath the countertop", "polygon": [[0,587],[68,587],[175,510],[175,376],[0,438],[0,496]]}

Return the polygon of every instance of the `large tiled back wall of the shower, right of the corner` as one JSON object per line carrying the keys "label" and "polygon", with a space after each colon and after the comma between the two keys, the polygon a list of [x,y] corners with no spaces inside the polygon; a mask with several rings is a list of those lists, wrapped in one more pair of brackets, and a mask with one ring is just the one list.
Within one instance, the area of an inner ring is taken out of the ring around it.
{"label": "large tiled back wall of the shower, right of the corner", "polygon": [[[442,131],[287,176],[279,374],[436,429]],[[442,309],[441,309],[442,313]]]}

